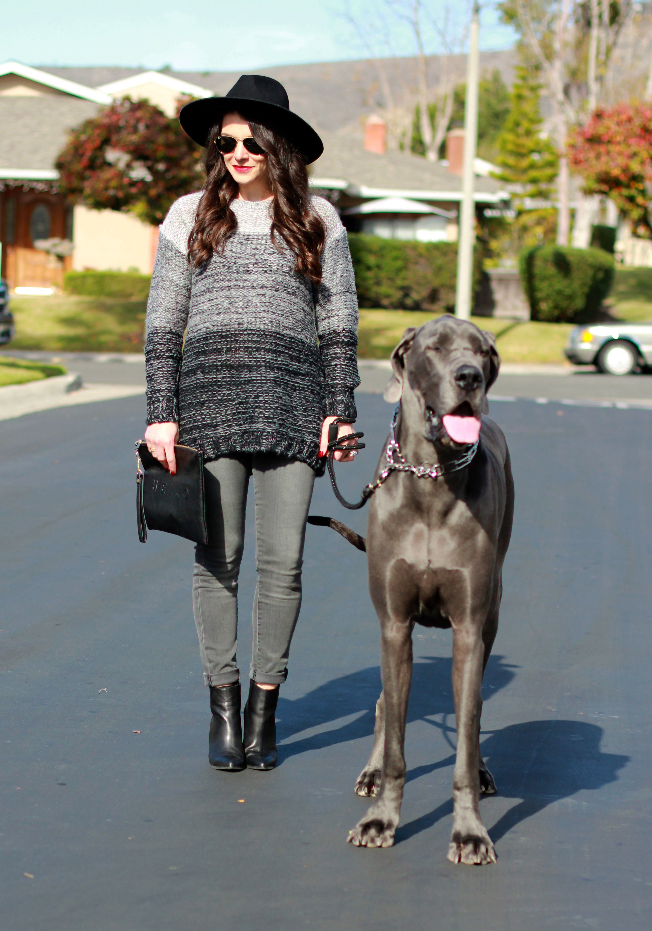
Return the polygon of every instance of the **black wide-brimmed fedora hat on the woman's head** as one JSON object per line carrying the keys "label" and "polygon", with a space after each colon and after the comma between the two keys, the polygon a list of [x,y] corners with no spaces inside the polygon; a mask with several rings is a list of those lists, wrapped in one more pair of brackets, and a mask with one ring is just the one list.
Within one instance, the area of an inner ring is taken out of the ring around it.
{"label": "black wide-brimmed fedora hat on the woman's head", "polygon": [[323,142],[306,120],[292,113],[288,95],[278,81],[263,74],[243,74],[225,97],[206,97],[182,107],[179,122],[183,131],[199,145],[206,145],[211,129],[224,114],[242,112],[285,136],[301,152],[306,165],[324,151]]}

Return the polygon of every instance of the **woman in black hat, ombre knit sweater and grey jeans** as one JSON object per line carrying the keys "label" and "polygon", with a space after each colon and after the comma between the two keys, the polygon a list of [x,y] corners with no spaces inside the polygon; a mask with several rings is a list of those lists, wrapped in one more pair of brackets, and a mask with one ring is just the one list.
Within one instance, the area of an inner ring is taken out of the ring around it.
{"label": "woman in black hat, ombre knit sweater and grey jeans", "polygon": [[[348,421],[344,436],[356,418],[355,282],[336,211],[308,194],[306,165],[323,146],[278,81],[243,76],[225,97],[188,103],[180,120],[206,146],[207,180],[160,228],[145,439],[172,473],[175,442],[204,453],[209,544],[196,549],[193,608],[211,690],[209,761],[266,770],[278,758],[274,712],[313,481],[333,419]],[[243,742],[236,646],[250,477],[258,583]]]}

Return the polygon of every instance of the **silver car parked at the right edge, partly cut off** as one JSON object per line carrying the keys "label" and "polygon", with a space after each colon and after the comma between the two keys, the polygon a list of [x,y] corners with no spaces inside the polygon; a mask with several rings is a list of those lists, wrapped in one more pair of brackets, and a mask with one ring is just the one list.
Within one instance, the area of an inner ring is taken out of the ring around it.
{"label": "silver car parked at the right edge, partly cut off", "polygon": [[576,327],[568,337],[564,356],[576,365],[595,365],[609,375],[629,375],[652,366],[652,322]]}

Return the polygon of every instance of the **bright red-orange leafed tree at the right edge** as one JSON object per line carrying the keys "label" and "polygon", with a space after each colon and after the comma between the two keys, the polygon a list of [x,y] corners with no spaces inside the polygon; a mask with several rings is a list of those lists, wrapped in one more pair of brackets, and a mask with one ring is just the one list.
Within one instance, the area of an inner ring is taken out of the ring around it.
{"label": "bright red-orange leafed tree at the right edge", "polygon": [[652,107],[619,103],[598,107],[568,141],[570,165],[587,194],[611,197],[632,223],[634,236],[652,238],[647,205],[652,183]]}

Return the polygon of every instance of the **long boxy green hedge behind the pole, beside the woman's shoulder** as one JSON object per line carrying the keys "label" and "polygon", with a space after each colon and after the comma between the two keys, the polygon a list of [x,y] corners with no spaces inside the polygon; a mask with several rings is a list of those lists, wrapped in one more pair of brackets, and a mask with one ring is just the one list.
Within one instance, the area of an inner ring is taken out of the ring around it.
{"label": "long boxy green hedge behind the pole, beside the woman's shoulder", "polygon": [[[360,307],[444,312],[455,307],[457,243],[414,242],[349,233]],[[473,293],[482,254],[473,250]]]}

